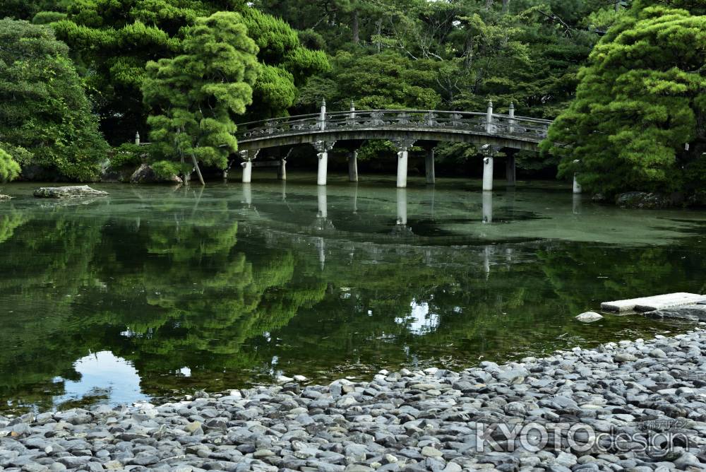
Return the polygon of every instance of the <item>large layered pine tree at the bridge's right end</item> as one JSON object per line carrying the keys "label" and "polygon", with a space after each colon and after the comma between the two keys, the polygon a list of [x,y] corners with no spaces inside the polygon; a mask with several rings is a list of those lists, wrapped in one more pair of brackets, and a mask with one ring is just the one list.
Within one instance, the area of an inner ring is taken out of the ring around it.
{"label": "large layered pine tree at the bridge's right end", "polygon": [[706,16],[638,6],[594,48],[542,144],[561,176],[606,194],[681,189],[706,151]]}

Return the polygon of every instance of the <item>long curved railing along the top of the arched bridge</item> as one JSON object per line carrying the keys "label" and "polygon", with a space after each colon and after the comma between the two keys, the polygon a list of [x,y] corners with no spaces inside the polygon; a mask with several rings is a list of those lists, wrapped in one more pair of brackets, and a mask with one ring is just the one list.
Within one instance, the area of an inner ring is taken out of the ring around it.
{"label": "long curved railing along the top of the arched bridge", "polygon": [[287,134],[355,129],[445,129],[541,141],[551,121],[509,114],[440,110],[350,110],[265,119],[238,125],[241,141]]}

